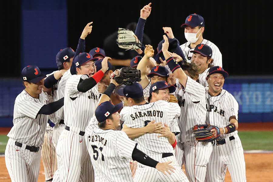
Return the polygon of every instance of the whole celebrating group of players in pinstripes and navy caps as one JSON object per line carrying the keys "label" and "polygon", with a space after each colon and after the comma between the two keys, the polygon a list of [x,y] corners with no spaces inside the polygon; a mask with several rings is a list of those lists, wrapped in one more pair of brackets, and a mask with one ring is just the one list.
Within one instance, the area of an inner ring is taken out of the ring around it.
{"label": "whole celebrating group of players in pinstripes and navy caps", "polygon": [[134,32],[118,30],[116,46],[138,54],[130,67],[99,47],[86,52],[90,22],[76,51],[58,52],[57,71],[22,70],[5,150],[12,181],[37,181],[41,158],[53,182],[221,182],[227,168],[246,181],[238,103],[222,88],[228,73],[203,17],[186,18],[182,45],[163,27],[154,54],[142,44],[150,13],[151,3]]}

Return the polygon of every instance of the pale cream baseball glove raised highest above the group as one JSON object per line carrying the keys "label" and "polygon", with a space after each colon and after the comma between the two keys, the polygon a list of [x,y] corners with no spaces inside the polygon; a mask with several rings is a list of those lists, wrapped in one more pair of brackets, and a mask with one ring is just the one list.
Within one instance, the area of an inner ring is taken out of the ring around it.
{"label": "pale cream baseball glove raised highest above the group", "polygon": [[141,49],[142,44],[132,30],[119,28],[117,44],[127,50]]}

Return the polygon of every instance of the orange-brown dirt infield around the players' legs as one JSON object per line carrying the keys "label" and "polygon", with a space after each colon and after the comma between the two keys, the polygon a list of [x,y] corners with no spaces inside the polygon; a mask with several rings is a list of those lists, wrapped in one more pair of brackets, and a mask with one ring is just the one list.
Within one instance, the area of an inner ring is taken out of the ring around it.
{"label": "orange-brown dirt infield around the players' legs", "polygon": [[[273,182],[273,153],[245,153],[246,176],[248,182]],[[5,165],[5,158],[0,157],[0,166],[4,166],[0,171],[0,182],[11,181]],[[40,174],[38,182],[43,182],[45,176],[41,161]],[[231,182],[230,174],[227,173],[225,182]]]}

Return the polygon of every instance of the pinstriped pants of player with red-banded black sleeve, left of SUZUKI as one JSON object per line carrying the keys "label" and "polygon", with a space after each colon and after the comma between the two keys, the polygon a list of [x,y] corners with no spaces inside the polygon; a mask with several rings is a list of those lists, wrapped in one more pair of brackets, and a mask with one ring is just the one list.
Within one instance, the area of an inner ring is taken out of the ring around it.
{"label": "pinstriped pants of player with red-banded black sleeve, left of SUZUKI", "polygon": [[70,127],[70,131],[62,131],[56,148],[58,173],[53,177],[54,182],[75,182],[79,179],[86,182],[94,181],[94,170],[85,139],[79,132],[79,128],[75,127]]}

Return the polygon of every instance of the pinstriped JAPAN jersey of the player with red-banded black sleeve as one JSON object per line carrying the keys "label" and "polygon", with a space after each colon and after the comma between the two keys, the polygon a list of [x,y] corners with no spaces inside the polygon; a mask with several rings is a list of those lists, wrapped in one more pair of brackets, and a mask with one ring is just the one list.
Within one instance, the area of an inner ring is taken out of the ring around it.
{"label": "pinstriped JAPAN jersey of the player with red-banded black sleeve", "polygon": [[86,93],[79,92],[77,87],[80,79],[87,79],[87,75],[72,75],[66,82],[64,98],[65,124],[84,131],[95,112],[99,100],[96,87]]}

